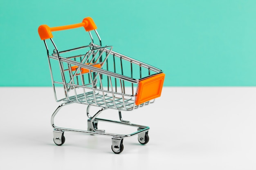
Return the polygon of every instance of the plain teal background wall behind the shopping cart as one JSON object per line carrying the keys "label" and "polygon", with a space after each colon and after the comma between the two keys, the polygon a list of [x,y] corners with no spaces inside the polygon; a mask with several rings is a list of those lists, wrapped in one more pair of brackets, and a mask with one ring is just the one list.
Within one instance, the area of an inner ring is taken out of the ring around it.
{"label": "plain teal background wall behind the shopping cart", "polygon": [[164,86],[255,86],[255,0],[5,0],[0,86],[51,86],[41,24],[90,16],[103,45],[156,66]]}

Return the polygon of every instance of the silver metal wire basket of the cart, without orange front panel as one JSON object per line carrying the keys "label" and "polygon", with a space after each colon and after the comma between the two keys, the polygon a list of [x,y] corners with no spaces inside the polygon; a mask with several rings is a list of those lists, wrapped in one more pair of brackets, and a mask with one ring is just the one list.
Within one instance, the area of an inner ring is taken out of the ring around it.
{"label": "silver metal wire basket of the cart, without orange front panel", "polygon": [[[97,33],[97,31],[95,32]],[[54,46],[54,53],[52,55],[49,55],[46,41],[44,41],[47,49],[56,101],[77,102],[118,110],[134,110],[153,103],[154,100],[145,102],[139,106],[135,105],[137,84],[142,79],[162,73],[162,71],[158,68],[112,51],[112,46],[101,47],[101,40],[98,33],[97,36],[100,40],[100,45],[93,44],[92,35],[91,33],[89,34],[92,42],[88,46],[81,46],[65,51],[58,51],[54,41],[50,39]],[[69,57],[61,57],[60,55],[62,53],[83,48],[90,48],[90,50],[85,55],[75,55]],[[103,57],[103,53],[105,53],[106,56]],[[108,59],[110,55],[112,55],[112,62]],[[52,59],[57,60],[59,63],[62,77],[61,82],[54,80],[51,66]],[[119,64],[117,64],[117,60],[119,60]],[[124,75],[124,62],[126,62],[126,64],[130,64],[130,75]],[[94,66],[95,64],[101,64],[101,67],[97,68]],[[139,78],[137,79],[134,78],[134,65],[139,66]],[[72,71],[72,66],[78,67],[76,71]],[[110,67],[112,68],[110,69]],[[88,69],[89,72],[86,74],[82,73],[82,68]],[[119,68],[119,71],[117,71],[117,68]],[[148,70],[147,75],[142,75],[142,68]],[[86,75],[88,75],[87,83],[85,83]],[[57,99],[55,84],[63,85],[65,98]],[[129,93],[126,88],[126,84],[131,85],[128,86],[128,88],[131,88],[131,92]],[[104,86],[106,86],[106,88]],[[78,92],[79,88],[82,89],[82,92]]]}

